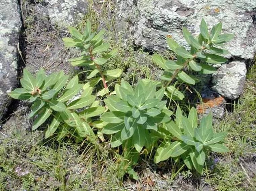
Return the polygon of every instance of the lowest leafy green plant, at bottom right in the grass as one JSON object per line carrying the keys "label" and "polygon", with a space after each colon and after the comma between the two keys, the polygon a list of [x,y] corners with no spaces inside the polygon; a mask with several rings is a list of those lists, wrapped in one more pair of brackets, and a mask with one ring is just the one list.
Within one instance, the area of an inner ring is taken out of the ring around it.
{"label": "lowest leafy green plant, at bottom right in the grass", "polygon": [[228,152],[226,146],[221,144],[225,132],[214,133],[212,127],[212,115],[204,116],[197,127],[197,112],[192,108],[188,118],[182,115],[181,109],[176,110],[176,119],[164,124],[164,128],[173,135],[174,142],[163,142],[156,151],[154,161],[158,163],[169,157],[180,157],[188,169],[202,174],[206,158],[206,151]]}

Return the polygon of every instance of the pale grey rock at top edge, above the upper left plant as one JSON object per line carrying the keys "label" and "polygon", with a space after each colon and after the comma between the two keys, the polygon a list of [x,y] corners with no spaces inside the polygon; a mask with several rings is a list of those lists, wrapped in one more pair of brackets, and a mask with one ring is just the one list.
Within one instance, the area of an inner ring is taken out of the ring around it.
{"label": "pale grey rock at top edge, above the upper left plant", "polygon": [[64,27],[74,25],[87,13],[87,1],[84,0],[45,0],[52,24]]}

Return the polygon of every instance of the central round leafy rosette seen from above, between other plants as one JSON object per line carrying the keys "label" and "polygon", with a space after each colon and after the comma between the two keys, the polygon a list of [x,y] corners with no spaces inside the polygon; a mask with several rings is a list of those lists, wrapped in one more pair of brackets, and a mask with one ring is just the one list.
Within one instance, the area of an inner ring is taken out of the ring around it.
{"label": "central round leafy rosette seen from above, between other plants", "polygon": [[[157,133],[157,125],[170,121],[173,113],[161,101],[164,90],[156,91],[157,82],[141,80],[133,90],[126,81],[115,85],[116,95],[108,96],[104,102],[109,112],[101,116],[108,124],[102,133],[112,135],[111,147],[117,147],[128,140],[128,147],[134,146],[140,152],[144,146],[150,148]],[[126,146],[127,147],[127,146]]]}

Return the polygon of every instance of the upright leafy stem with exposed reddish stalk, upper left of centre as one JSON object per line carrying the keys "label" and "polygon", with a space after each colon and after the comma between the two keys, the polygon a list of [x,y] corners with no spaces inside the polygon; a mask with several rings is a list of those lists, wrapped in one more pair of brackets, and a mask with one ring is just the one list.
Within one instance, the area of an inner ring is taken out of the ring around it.
{"label": "upright leafy stem with exposed reddish stalk, upper left of centre", "polygon": [[[66,47],[77,47],[81,50],[81,57],[69,59],[73,66],[87,66],[91,68],[87,79],[90,80],[90,86],[96,86],[100,81],[103,83],[103,90],[98,92],[98,95],[103,96],[109,92],[107,82],[118,78],[122,70],[102,70],[102,66],[117,53],[117,49],[106,53],[110,47],[109,43],[103,43],[103,38],[106,33],[105,29],[100,32],[92,32],[91,23],[86,22],[86,28],[83,33],[80,33],[74,27],[69,27],[71,38],[63,38]],[[104,52],[104,55],[102,53]]]}

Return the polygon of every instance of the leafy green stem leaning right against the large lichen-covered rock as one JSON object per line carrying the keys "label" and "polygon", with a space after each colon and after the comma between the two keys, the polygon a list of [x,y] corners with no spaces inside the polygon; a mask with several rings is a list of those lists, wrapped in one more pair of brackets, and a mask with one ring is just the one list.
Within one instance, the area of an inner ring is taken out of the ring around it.
{"label": "leafy green stem leaning right against the large lichen-covered rock", "polygon": [[153,61],[164,69],[161,80],[164,81],[164,87],[167,88],[166,95],[172,99],[182,100],[184,95],[174,86],[169,86],[174,79],[178,79],[186,84],[194,85],[198,79],[186,73],[186,68],[201,74],[212,74],[216,68],[212,64],[222,64],[227,61],[222,55],[229,52],[222,49],[223,44],[230,41],[234,35],[221,34],[222,23],[215,25],[209,33],[207,24],[202,19],[200,24],[200,34],[193,37],[186,29],[182,28],[183,36],[190,46],[186,50],[180,46],[174,39],[167,38],[170,49],[177,54],[176,60],[166,60],[159,54],[153,55]]}

